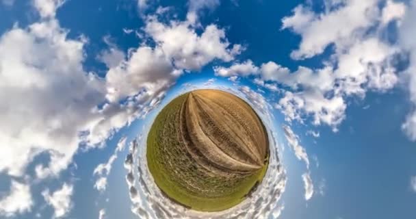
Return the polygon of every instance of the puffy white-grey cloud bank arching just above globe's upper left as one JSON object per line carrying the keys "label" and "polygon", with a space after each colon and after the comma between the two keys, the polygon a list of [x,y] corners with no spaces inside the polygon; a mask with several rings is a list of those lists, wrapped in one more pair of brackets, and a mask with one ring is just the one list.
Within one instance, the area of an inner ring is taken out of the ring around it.
{"label": "puffy white-grey cloud bank arching just above globe's upper left", "polygon": [[159,103],[183,70],[200,70],[216,59],[229,62],[241,51],[239,44],[230,47],[224,30],[216,25],[208,25],[201,34],[196,34],[188,21],[165,24],[155,16],[148,16],[144,31],[157,45],[131,50],[127,61],[109,69],[106,75],[109,101],[134,96],[139,103],[151,99]]}

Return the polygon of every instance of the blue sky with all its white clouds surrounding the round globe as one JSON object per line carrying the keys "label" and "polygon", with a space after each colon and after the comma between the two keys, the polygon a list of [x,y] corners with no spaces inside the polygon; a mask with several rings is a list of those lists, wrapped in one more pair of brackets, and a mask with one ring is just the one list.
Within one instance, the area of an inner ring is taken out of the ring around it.
{"label": "blue sky with all its white clouds surrounding the round globe", "polygon": [[160,218],[146,133],[198,88],[274,134],[246,218],[416,215],[416,1],[0,0],[0,18],[0,218]]}

